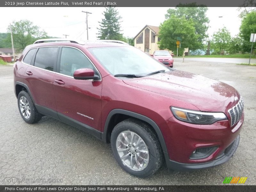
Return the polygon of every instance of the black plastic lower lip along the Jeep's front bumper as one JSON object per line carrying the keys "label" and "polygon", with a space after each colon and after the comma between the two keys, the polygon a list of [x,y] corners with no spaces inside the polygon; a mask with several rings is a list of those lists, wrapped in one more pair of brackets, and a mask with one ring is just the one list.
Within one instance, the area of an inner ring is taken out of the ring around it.
{"label": "black plastic lower lip along the Jeep's front bumper", "polygon": [[208,168],[223,164],[233,156],[233,154],[235,153],[238,147],[239,140],[240,140],[240,137],[238,135],[238,137],[228,146],[228,148],[226,148],[215,160],[211,162],[199,163],[199,164],[185,164],[185,163],[179,163],[179,162],[168,159],[166,161],[167,167],[169,170],[189,172],[189,171],[196,171],[200,169],[208,169]]}

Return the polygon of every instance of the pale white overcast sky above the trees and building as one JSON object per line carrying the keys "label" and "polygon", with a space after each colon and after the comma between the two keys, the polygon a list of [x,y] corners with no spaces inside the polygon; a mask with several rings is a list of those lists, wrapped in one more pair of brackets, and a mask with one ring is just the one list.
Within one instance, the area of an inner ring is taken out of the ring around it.
{"label": "pale white overcast sky above the trees and building", "polygon": [[[173,7],[117,7],[122,17],[121,29],[124,36],[134,37],[145,25],[159,26],[164,22],[167,10]],[[13,21],[30,20],[48,34],[65,38],[86,40],[86,13],[88,14],[89,40],[96,40],[99,21],[102,20],[104,7],[0,7],[0,33],[7,32],[8,25]],[[210,20],[208,34],[224,26],[232,37],[239,33],[241,19],[237,7],[209,7],[206,13]]]}

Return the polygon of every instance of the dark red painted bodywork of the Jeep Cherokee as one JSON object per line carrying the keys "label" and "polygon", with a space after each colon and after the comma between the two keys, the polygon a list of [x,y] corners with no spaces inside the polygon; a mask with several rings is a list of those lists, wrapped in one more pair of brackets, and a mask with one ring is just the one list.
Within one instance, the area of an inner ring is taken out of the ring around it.
{"label": "dark red painted bodywork of the Jeep Cherokee", "polygon": [[[90,47],[108,47],[109,43],[47,43],[47,46],[72,46],[84,52],[100,72],[101,81],[76,80],[22,62],[27,47],[14,67],[14,84],[22,82],[38,106],[44,106],[103,133],[113,109],[124,109],[148,117],[159,127],[170,160],[184,164],[211,162],[235,140],[244,120],[230,127],[228,109],[234,107],[240,94],[231,86],[203,76],[179,70],[141,78],[117,78],[101,66],[88,51]],[[46,45],[45,45],[46,46]],[[111,44],[111,46],[128,46]],[[155,58],[155,57],[154,57]],[[172,66],[172,62],[167,66]],[[147,66],[147,63],[145,63]],[[32,74],[32,75],[31,75]],[[57,81],[56,81],[57,80]],[[63,83],[61,83],[63,82]],[[15,84],[16,96],[17,84]],[[223,112],[227,120],[210,125],[181,122],[170,107]],[[80,115],[79,115],[79,114]],[[82,116],[86,114],[88,117]],[[60,120],[61,117],[59,116]],[[196,148],[218,146],[209,157],[189,158]]]}

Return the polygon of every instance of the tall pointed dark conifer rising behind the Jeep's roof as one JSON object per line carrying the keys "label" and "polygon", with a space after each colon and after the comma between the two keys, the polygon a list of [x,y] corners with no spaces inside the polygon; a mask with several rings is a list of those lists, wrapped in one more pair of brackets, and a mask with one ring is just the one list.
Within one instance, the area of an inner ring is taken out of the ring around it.
{"label": "tall pointed dark conifer rising behind the Jeep's roof", "polygon": [[124,40],[123,34],[120,33],[120,19],[119,12],[115,7],[106,7],[102,13],[104,18],[100,23],[99,33],[97,35],[99,39],[108,40]]}

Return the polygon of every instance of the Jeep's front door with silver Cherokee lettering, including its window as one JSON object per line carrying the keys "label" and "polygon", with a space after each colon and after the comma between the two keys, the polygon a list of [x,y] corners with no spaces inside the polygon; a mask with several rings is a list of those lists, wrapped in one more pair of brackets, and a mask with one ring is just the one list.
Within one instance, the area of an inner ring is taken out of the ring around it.
{"label": "Jeep's front door with silver Cherokee lettering, including its window", "polygon": [[[73,73],[76,69],[91,68],[100,76],[91,60],[81,50],[74,47],[62,47],[57,64],[57,73],[53,78],[53,90],[59,118],[69,124],[71,121],[85,126],[85,130],[100,131],[101,122],[101,79],[77,80]],[[80,127],[81,128],[81,127]],[[83,129],[83,128],[81,128]]]}

